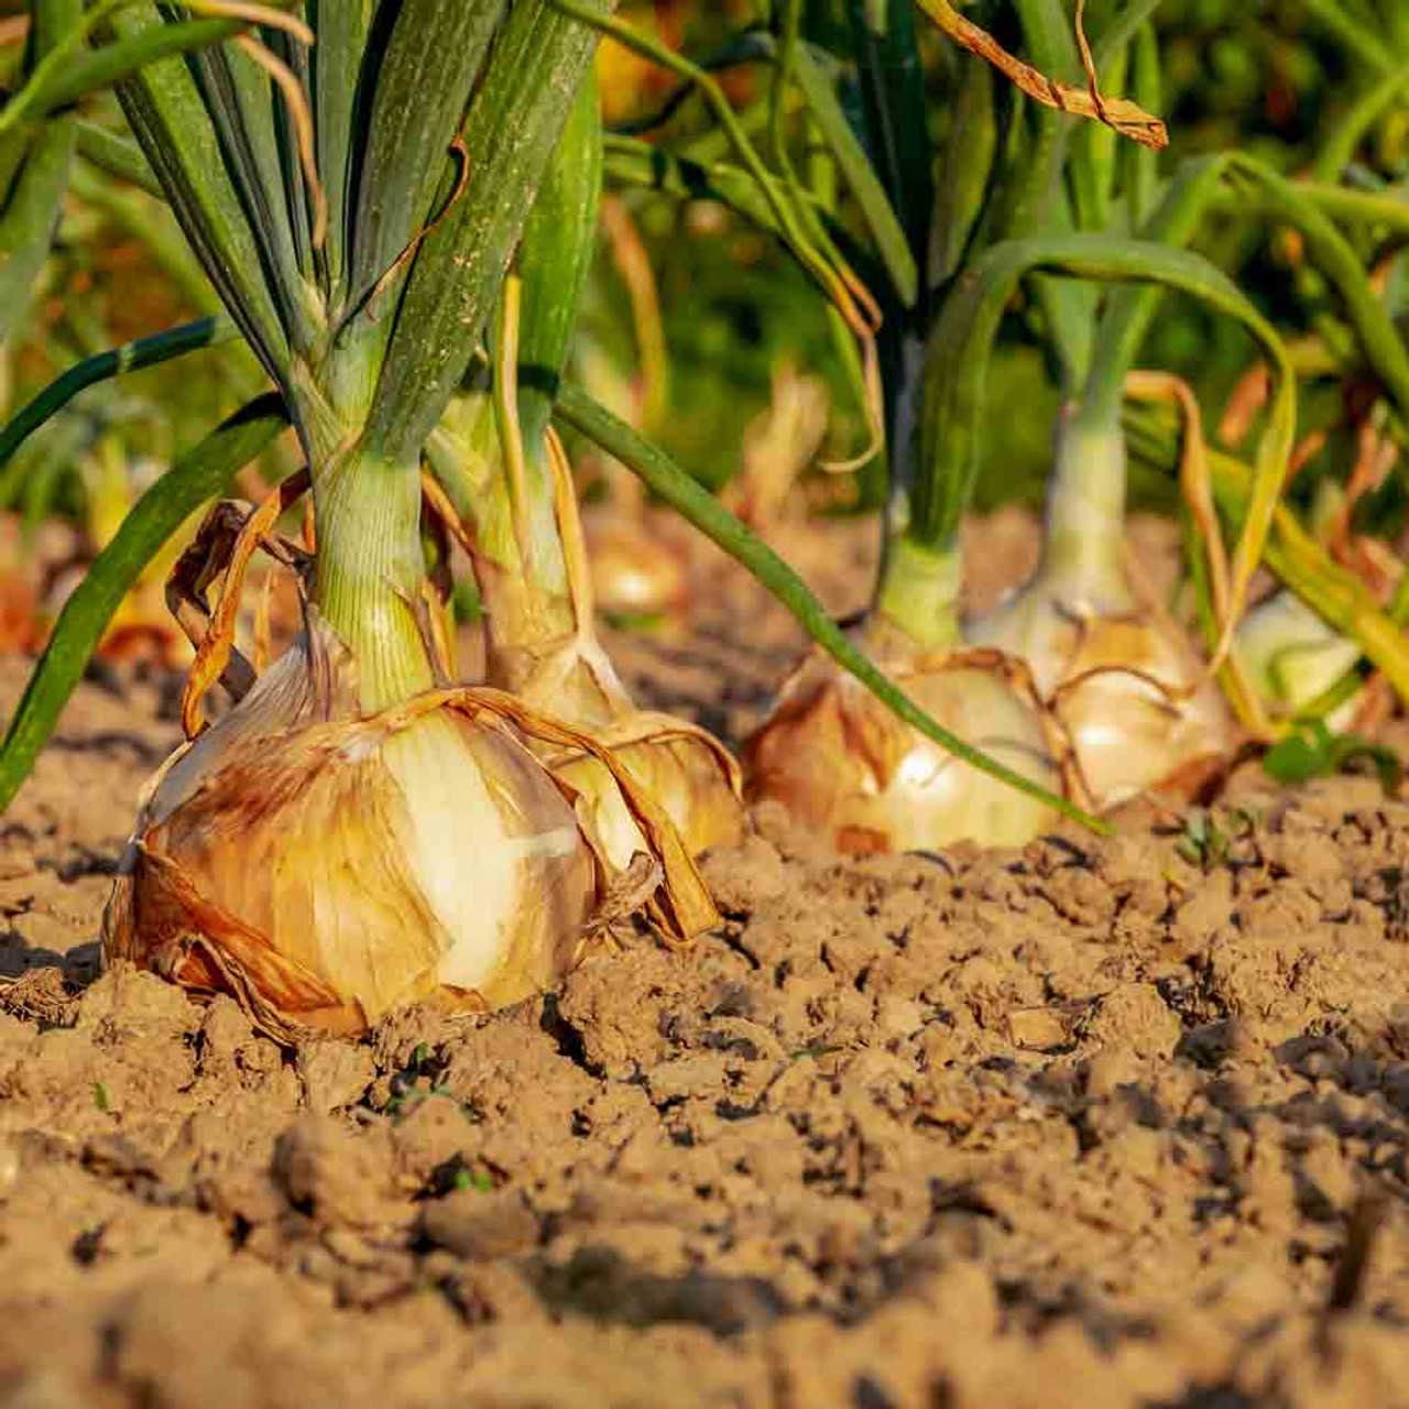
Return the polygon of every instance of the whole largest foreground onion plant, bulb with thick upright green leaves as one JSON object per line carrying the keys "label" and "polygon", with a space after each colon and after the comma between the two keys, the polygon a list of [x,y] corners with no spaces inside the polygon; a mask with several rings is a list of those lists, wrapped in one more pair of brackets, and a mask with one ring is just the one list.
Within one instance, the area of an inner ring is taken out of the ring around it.
{"label": "whole largest foreground onion plant, bulb with thick upright green leaves", "polygon": [[[355,1030],[416,998],[511,1000],[641,906],[685,937],[713,910],[651,796],[597,741],[451,686],[423,596],[421,448],[596,37],[537,0],[238,13],[259,24],[147,65],[118,96],[307,468],[237,531],[213,517],[173,581],[209,616],[190,743],[144,796],[104,954],[231,992],[286,1036]],[[182,27],[151,4],[92,18],[147,48]],[[311,557],[275,535],[304,490]],[[251,683],[232,620],[261,545],[307,604],[297,643]],[[207,727],[217,679],[238,703]],[[640,857],[613,864],[528,740],[600,762]]]}

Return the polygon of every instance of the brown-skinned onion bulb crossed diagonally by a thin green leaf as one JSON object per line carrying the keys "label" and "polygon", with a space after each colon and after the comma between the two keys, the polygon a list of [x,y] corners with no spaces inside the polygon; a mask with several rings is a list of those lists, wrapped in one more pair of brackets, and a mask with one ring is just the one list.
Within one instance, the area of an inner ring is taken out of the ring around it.
{"label": "brown-skinned onion bulb crossed diagonally by a thin green leaf", "polygon": [[[886,674],[948,730],[1061,790],[1041,721],[1000,674],[943,662]],[[900,723],[820,654],[789,678],[744,744],[744,771],[750,800],[782,803],[850,854],[1022,845],[1057,816]]]}

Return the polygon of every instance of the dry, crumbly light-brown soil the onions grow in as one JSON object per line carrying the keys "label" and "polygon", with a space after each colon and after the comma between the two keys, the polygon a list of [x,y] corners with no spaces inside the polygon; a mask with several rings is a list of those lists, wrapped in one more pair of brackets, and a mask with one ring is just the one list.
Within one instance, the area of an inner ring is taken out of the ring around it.
{"label": "dry, crumbly light-brown soil the onions grow in", "polygon": [[[1030,561],[1026,521],[985,533]],[[820,541],[858,607],[869,533]],[[799,638],[702,571],[689,631],[610,644],[737,741]],[[864,859],[764,807],[690,951],[289,1054],[99,974],[176,688],[90,671],[0,821],[0,1403],[1409,1403],[1409,806],[1377,779],[1247,768],[1202,862],[1148,807]]]}

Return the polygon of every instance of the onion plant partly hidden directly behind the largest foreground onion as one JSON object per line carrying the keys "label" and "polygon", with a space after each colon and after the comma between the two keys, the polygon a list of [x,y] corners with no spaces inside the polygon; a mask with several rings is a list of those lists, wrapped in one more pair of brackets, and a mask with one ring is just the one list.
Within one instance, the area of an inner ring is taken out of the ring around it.
{"label": "onion plant partly hidden directly behind the largest foreground onion", "polygon": [[[603,651],[576,493],[550,427],[596,248],[600,178],[597,93],[586,83],[519,245],[492,366],[451,403],[427,458],[475,565],[486,683],[592,730],[699,852],[743,834],[738,768],[704,730],[637,709]],[[547,761],[624,867],[641,837],[610,775],[581,750],[554,750]]]}

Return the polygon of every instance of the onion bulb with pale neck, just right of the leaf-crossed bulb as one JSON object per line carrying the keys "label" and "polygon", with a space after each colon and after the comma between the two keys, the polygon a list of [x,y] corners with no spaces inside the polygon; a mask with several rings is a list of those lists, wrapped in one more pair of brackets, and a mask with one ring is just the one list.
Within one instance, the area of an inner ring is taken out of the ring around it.
{"label": "onion bulb with pale neck, just right of the leaf-crossed bulb", "polygon": [[1099,810],[1178,786],[1223,757],[1231,720],[1192,644],[1131,590],[1124,441],[1062,428],[1043,559],[967,635],[1023,659]]}

